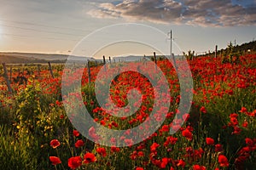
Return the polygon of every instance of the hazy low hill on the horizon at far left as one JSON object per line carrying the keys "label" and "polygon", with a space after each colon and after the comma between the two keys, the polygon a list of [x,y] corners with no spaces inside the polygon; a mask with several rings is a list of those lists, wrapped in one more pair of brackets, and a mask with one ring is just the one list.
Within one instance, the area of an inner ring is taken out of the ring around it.
{"label": "hazy low hill on the horizon at far left", "polygon": [[[69,55],[67,54],[33,54],[33,53],[5,53],[0,52],[0,62],[7,64],[26,64],[26,63],[65,63]],[[79,57],[73,56],[73,60],[78,61]],[[83,59],[95,60],[90,57]]]}

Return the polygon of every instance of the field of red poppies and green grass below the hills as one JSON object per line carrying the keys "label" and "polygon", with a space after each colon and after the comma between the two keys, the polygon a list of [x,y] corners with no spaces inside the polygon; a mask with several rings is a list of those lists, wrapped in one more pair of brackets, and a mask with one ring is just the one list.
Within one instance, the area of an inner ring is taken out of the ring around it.
{"label": "field of red poppies and green grass below the hills", "polygon": [[[131,139],[124,138],[129,146],[120,148],[115,147],[115,139],[109,139],[111,147],[94,144],[73,127],[61,97],[63,65],[52,65],[54,78],[47,65],[40,72],[33,65],[14,66],[13,94],[9,94],[4,77],[0,77],[0,169],[253,169],[256,167],[256,54],[226,62],[211,57],[188,62],[194,81],[189,113],[172,122],[179,114],[180,86],[172,64],[167,59],[159,60],[157,65],[171,89],[170,93],[165,92],[171,96],[166,101],[170,107],[160,108],[168,110],[166,120],[148,139],[132,144]],[[95,94],[94,82],[101,67],[90,68],[91,82],[84,69],[81,81],[82,99],[90,115],[109,129],[139,126],[154,109],[154,91],[147,77],[128,71],[114,78],[110,94],[115,105],[127,105],[127,91],[131,88],[140,90],[143,101],[132,116],[110,116],[100,107]],[[24,71],[21,74],[27,83],[17,79],[19,69]],[[76,79],[76,72],[72,73],[70,82]],[[182,119],[183,126],[176,127],[177,133],[170,135],[170,128]],[[108,138],[108,134],[96,129],[89,131],[92,138]]]}

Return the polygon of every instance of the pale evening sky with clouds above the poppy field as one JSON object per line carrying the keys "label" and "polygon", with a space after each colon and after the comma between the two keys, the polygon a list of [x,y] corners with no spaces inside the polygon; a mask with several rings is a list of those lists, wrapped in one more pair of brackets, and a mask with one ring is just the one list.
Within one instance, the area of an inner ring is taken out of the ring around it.
{"label": "pale evening sky with clouds above the poppy field", "polygon": [[[229,42],[256,39],[256,0],[0,0],[0,4],[3,52],[71,54],[92,32],[121,23],[153,26],[166,33],[166,42],[172,30],[172,41],[181,51],[191,49],[195,54],[213,51],[215,45],[226,48]],[[101,39],[90,45],[97,41]],[[136,54],[151,53],[148,47],[124,42],[102,47],[96,58],[126,53],[129,47]]]}

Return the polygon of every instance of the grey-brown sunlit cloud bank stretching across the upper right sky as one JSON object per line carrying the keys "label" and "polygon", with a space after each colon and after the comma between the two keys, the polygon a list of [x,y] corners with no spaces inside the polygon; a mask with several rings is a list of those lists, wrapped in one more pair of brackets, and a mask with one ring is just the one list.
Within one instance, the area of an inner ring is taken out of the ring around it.
{"label": "grey-brown sunlit cloud bank stretching across the upper right sky", "polygon": [[99,3],[95,18],[195,26],[255,26],[256,2],[246,0],[124,0]]}

